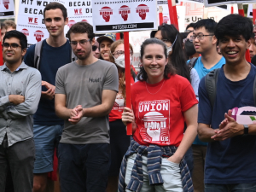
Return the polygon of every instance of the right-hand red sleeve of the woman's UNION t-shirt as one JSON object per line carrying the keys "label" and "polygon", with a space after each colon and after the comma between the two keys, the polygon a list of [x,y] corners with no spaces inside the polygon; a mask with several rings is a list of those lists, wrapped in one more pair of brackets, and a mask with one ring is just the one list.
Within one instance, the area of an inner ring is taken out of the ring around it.
{"label": "right-hand red sleeve of the woman's UNION t-shirt", "polygon": [[195,104],[197,104],[198,101],[195,98],[195,92],[187,79],[183,87],[184,89],[182,90],[182,93],[180,96],[180,102],[181,102],[182,111],[185,112],[189,108],[192,108]]}

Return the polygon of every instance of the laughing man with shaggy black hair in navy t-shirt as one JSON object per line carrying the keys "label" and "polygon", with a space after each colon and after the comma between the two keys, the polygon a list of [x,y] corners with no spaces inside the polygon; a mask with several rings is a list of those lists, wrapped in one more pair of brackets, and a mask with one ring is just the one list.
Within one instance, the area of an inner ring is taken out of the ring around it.
{"label": "laughing man with shaggy black hair in navy t-shirt", "polygon": [[237,123],[230,110],[255,107],[256,67],[245,59],[252,32],[252,21],[241,15],[225,16],[215,30],[226,62],[218,69],[213,103],[205,78],[199,85],[198,135],[208,143],[205,192],[256,191],[256,125]]}

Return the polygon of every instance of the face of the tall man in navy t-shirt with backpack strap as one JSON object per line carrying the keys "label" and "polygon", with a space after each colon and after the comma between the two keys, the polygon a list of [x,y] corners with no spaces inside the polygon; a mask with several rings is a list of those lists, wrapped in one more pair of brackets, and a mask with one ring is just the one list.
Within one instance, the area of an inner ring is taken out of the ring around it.
{"label": "face of the tall man in navy t-shirt with backpack strap", "polygon": [[49,9],[44,14],[44,24],[52,37],[64,36],[64,26],[68,18],[64,20],[61,9]]}

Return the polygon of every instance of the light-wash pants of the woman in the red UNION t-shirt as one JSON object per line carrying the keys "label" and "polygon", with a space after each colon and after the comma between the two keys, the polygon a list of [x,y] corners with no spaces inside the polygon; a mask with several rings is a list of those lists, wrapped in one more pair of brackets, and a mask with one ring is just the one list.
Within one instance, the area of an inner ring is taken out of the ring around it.
{"label": "light-wash pants of the woman in the red UNION t-shirt", "polygon": [[[127,167],[125,173],[125,184],[127,185],[131,180],[131,170],[134,165],[134,160],[137,154],[132,154],[127,160]],[[162,185],[149,185],[148,168],[146,156],[143,156],[143,187],[141,192],[183,192],[183,185],[181,181],[180,168],[177,163],[173,163],[167,158],[162,158],[162,165],[160,169],[161,176],[164,180]],[[125,191],[131,191],[126,189]]]}

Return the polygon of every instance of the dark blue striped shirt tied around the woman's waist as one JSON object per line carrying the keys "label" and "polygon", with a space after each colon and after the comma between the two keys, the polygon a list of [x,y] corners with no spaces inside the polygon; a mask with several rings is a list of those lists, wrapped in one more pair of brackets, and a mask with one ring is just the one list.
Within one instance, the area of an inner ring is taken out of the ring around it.
{"label": "dark blue striped shirt tied around the woman's waist", "polygon": [[[131,144],[128,148],[124,159],[121,164],[119,173],[119,192],[125,192],[125,188],[131,191],[139,192],[143,187],[143,157],[142,155],[148,156],[148,178],[149,184],[162,184],[164,183],[163,178],[160,174],[161,157],[172,156],[175,153],[177,147],[175,146],[165,146],[160,147],[158,145],[150,144],[149,146],[140,145],[131,137]],[[134,161],[134,166],[131,172],[131,180],[127,186],[125,186],[125,172],[127,166],[127,159],[131,154],[137,154],[136,160]],[[189,167],[186,161],[181,160],[180,171],[183,183],[184,192],[193,192],[192,179],[189,173]]]}

